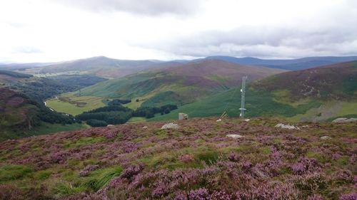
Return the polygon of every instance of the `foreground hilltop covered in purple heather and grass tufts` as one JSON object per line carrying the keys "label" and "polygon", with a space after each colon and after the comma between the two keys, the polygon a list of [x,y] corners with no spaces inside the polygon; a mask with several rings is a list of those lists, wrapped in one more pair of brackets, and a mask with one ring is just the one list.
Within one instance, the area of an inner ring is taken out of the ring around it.
{"label": "foreground hilltop covered in purple heather and grass tufts", "polygon": [[146,122],[0,142],[0,197],[356,199],[356,123],[175,122],[176,130]]}

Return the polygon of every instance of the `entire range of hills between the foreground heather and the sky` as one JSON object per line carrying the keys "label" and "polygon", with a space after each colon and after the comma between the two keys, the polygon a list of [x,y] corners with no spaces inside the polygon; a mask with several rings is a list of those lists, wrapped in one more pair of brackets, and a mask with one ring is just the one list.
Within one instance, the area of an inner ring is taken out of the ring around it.
{"label": "entire range of hills between the foreground heather and the sky", "polygon": [[[248,117],[283,117],[292,122],[326,121],[357,115],[356,61],[336,63],[355,58],[263,60],[212,56],[196,60],[161,61],[116,60],[99,56],[49,65],[3,66],[6,70],[0,70],[0,88],[6,89],[6,93],[25,95],[24,103],[16,105],[14,110],[18,107],[16,109],[26,111],[22,108],[33,107],[34,112],[31,113],[34,115],[29,116],[36,116],[33,118],[36,119],[35,124],[39,125],[42,121],[51,127],[49,122],[69,122],[66,114],[79,115],[104,107],[115,99],[129,102],[124,106],[131,110],[178,106],[178,109],[168,110],[167,113],[162,110],[161,115],[156,113],[150,119],[132,117],[129,122],[174,120],[178,112],[185,112],[190,117],[219,117],[222,114],[235,117],[239,115],[241,78],[247,75]],[[334,64],[321,66],[321,63]],[[297,70],[300,68],[303,70]],[[52,111],[43,107],[44,101]],[[2,105],[5,106],[7,102],[3,98]],[[4,112],[4,109],[0,111]],[[23,113],[27,113],[25,111],[6,110],[6,113],[12,113],[14,119],[18,113],[20,119]],[[41,118],[41,113],[50,117]],[[21,119],[26,122],[24,116]],[[13,127],[8,124],[4,121],[3,129]],[[31,125],[22,124],[21,127]],[[77,125],[74,127],[81,128]],[[46,129],[51,132],[61,130],[59,127]],[[47,130],[40,132],[46,133]]]}

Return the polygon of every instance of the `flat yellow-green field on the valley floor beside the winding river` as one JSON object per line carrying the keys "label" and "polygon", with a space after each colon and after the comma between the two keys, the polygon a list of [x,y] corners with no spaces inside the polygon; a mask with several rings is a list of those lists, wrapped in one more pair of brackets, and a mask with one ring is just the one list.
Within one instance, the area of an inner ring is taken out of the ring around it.
{"label": "flat yellow-green field on the valley floor beside the winding river", "polygon": [[79,115],[83,112],[103,107],[104,98],[93,96],[76,97],[73,93],[62,95],[61,98],[46,100],[47,106],[57,112],[65,112],[71,115]]}

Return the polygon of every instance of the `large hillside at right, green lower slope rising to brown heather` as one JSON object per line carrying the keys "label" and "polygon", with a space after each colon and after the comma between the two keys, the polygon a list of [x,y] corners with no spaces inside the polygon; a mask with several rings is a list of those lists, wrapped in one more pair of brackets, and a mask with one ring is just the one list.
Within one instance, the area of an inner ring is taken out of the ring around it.
{"label": "large hillside at right, green lower slope rising to brown heather", "polygon": [[[174,120],[178,112],[191,117],[240,113],[240,88],[231,88],[178,107],[151,120]],[[326,121],[357,117],[357,62],[278,73],[249,83],[246,116],[283,117],[285,120]]]}

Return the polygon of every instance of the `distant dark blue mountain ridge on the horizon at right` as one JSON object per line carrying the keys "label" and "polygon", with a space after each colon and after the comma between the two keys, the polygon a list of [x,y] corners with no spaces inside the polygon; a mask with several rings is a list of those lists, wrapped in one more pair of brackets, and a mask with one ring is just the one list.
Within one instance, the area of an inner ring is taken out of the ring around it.
{"label": "distant dark blue mountain ridge on the horizon at right", "polygon": [[306,68],[314,68],[321,65],[331,65],[335,63],[343,63],[357,60],[357,56],[326,56],[326,57],[307,57],[298,59],[260,59],[260,58],[236,58],[230,56],[210,56],[208,59],[225,60],[231,63],[241,65],[261,65],[268,68],[279,68],[285,70],[303,70]]}

